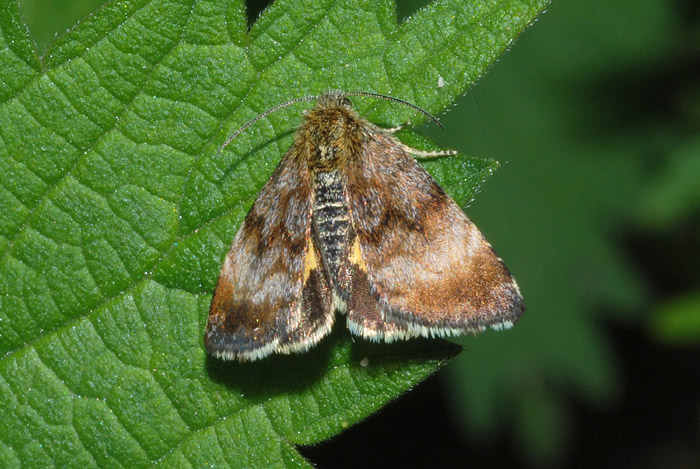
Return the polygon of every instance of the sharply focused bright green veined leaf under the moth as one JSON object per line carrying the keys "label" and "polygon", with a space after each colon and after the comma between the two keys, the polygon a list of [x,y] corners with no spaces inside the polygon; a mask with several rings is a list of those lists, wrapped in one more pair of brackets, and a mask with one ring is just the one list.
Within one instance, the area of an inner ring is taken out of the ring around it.
{"label": "sharply focused bright green veined leaf under the moth", "polygon": [[[545,3],[436,2],[399,25],[389,1],[284,1],[247,31],[241,1],[114,1],[39,60],[0,0],[0,465],[306,465],[294,445],[443,365],[447,342],[372,345],[342,325],[304,355],[207,358],[223,256],[303,106],[217,149],[328,88],[440,112]],[[379,124],[421,119],[356,101]],[[495,168],[427,165],[462,202]]]}

